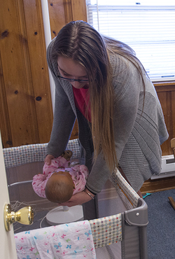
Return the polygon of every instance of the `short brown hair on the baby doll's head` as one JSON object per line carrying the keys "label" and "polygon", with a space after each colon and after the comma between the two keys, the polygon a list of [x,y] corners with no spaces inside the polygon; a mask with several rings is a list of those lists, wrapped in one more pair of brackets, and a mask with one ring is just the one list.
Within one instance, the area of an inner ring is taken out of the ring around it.
{"label": "short brown hair on the baby doll's head", "polygon": [[[51,180],[50,176],[50,179]],[[62,203],[67,202],[73,195],[73,185],[65,183],[60,180],[59,176],[57,181],[48,181],[45,186],[45,196],[50,202]]]}

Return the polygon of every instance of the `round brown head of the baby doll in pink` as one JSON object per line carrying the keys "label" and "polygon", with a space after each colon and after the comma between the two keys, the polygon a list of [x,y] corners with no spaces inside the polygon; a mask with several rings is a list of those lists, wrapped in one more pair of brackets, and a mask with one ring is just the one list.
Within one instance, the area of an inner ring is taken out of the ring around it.
{"label": "round brown head of the baby doll in pink", "polygon": [[53,173],[45,186],[45,196],[50,202],[67,202],[73,195],[75,185],[68,171]]}

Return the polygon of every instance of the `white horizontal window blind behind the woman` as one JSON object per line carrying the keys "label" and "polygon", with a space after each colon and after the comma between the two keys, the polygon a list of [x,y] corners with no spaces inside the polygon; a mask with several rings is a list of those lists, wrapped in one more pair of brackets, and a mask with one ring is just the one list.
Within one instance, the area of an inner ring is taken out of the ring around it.
{"label": "white horizontal window blind behind the woman", "polygon": [[152,81],[175,80],[175,6],[128,2],[86,0],[87,22],[130,45]]}

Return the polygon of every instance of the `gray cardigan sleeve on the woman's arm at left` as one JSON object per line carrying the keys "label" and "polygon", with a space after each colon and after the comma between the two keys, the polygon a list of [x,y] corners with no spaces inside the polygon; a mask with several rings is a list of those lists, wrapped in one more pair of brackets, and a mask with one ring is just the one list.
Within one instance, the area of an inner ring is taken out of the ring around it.
{"label": "gray cardigan sleeve on the woman's arm at left", "polygon": [[57,158],[66,149],[76,116],[71,108],[69,98],[57,78],[57,62],[55,64],[51,57],[53,43],[54,41],[51,41],[47,50],[48,67],[55,80],[55,110],[47,155],[54,155]]}

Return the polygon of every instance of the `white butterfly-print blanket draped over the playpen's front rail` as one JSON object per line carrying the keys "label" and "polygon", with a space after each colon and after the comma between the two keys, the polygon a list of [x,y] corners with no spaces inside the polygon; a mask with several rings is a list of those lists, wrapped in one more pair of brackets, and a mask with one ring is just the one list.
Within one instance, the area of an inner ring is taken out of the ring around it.
{"label": "white butterfly-print blanket draped over the playpen's front rail", "polygon": [[89,221],[20,232],[15,242],[18,259],[96,259]]}

